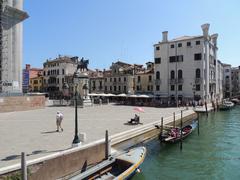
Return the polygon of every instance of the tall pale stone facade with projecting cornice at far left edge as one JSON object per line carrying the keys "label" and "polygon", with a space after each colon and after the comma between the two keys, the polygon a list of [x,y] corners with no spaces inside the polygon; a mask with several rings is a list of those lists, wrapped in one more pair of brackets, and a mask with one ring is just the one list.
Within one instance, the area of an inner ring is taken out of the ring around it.
{"label": "tall pale stone facade with projecting cornice at far left edge", "polygon": [[0,93],[22,93],[23,0],[0,0]]}

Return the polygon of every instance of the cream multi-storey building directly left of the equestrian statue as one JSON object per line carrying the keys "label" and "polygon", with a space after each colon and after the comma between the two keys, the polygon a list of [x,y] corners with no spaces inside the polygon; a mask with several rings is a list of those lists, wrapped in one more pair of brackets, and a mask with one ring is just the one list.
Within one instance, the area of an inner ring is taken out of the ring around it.
{"label": "cream multi-storey building directly left of the equestrian statue", "polygon": [[[61,99],[64,95],[64,84],[72,83],[73,74],[77,69],[78,57],[60,56],[47,60],[43,64],[43,89],[50,98]],[[68,86],[69,86],[68,85]],[[73,91],[73,87],[70,91]]]}

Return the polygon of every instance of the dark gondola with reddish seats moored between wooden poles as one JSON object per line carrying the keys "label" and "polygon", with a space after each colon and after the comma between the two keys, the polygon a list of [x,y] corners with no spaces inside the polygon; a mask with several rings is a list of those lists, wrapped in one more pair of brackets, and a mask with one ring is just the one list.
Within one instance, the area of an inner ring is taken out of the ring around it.
{"label": "dark gondola with reddish seats moored between wooden poles", "polygon": [[[192,124],[186,125],[182,128],[182,139],[190,135],[198,125],[197,121],[193,121]],[[167,134],[163,134],[160,137],[162,142],[176,143],[181,140],[181,128],[171,128]]]}

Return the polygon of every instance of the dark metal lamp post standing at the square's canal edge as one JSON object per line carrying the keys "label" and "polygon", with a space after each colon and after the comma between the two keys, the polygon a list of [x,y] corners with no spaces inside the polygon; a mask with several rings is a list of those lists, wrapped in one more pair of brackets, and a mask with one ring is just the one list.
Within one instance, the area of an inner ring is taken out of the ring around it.
{"label": "dark metal lamp post standing at the square's canal edge", "polygon": [[[75,80],[75,81],[74,81]],[[75,135],[72,144],[77,145],[80,143],[79,137],[78,137],[78,111],[77,111],[77,74],[74,73],[73,75],[73,84],[75,85]]]}

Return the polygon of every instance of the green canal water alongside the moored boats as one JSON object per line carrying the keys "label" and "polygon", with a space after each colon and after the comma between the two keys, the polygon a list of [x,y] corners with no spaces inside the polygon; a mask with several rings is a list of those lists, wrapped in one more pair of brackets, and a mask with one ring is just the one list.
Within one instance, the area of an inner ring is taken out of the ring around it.
{"label": "green canal water alongside the moored boats", "polygon": [[146,144],[142,172],[132,179],[240,180],[240,107],[200,116],[197,129],[179,144]]}

